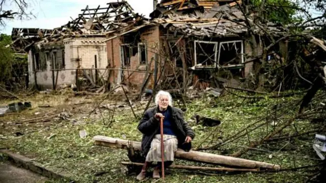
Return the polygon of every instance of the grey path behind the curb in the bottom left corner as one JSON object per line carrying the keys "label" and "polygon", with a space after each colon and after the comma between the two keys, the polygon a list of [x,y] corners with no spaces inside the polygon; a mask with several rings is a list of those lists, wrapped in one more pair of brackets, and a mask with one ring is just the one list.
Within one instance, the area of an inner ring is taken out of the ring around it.
{"label": "grey path behind the curb in the bottom left corner", "polygon": [[0,161],[0,182],[1,183],[34,183],[45,182],[46,177],[40,176],[29,170],[15,167],[10,163]]}

